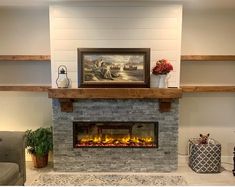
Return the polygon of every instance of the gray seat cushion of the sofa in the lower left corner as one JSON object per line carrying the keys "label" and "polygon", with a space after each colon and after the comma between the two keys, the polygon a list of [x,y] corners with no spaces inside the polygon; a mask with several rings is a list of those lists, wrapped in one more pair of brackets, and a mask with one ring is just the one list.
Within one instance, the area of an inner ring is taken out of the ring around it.
{"label": "gray seat cushion of the sofa in the lower left corner", "polygon": [[0,162],[0,186],[12,185],[19,178],[19,165],[11,162]]}

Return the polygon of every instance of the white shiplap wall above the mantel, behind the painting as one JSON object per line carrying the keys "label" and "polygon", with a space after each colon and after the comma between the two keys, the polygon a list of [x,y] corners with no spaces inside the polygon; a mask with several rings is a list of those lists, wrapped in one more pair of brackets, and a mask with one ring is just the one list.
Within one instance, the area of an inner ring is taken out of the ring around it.
{"label": "white shiplap wall above the mantel, behind the painting", "polygon": [[50,6],[52,86],[58,66],[77,88],[77,48],[151,48],[174,66],[169,86],[179,87],[182,5],[159,2],[77,2]]}

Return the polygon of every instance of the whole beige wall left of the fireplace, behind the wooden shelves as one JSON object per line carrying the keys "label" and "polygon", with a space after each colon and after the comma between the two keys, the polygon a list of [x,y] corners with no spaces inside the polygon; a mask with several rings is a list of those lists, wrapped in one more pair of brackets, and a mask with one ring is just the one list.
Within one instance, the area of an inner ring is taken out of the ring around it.
{"label": "whole beige wall left of the fireplace, behind the wooden shelves", "polygon": [[[1,55],[48,55],[48,8],[0,8]],[[48,62],[0,62],[0,85],[51,84]],[[47,93],[0,92],[0,130],[36,129],[51,124]]]}

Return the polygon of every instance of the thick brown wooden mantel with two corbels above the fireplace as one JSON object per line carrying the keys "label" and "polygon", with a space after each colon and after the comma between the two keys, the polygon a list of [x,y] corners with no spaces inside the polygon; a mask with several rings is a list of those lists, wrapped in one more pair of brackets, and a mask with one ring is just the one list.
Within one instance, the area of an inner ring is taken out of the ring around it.
{"label": "thick brown wooden mantel with two corbels above the fireplace", "polygon": [[76,99],[159,99],[160,112],[171,109],[172,99],[182,97],[180,88],[77,88],[49,89],[49,98],[59,99],[62,112],[73,111]]}

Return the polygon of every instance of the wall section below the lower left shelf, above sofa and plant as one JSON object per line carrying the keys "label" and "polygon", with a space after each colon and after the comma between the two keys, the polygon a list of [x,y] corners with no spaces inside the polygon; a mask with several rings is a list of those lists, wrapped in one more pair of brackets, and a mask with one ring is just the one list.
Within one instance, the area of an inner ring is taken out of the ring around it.
{"label": "wall section below the lower left shelf, above sofa and plant", "polygon": [[0,92],[0,130],[36,129],[52,125],[47,93]]}

